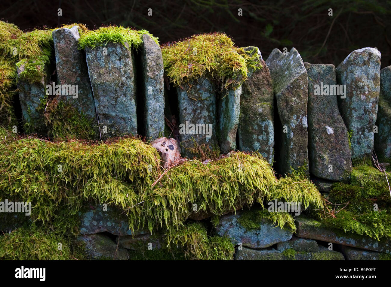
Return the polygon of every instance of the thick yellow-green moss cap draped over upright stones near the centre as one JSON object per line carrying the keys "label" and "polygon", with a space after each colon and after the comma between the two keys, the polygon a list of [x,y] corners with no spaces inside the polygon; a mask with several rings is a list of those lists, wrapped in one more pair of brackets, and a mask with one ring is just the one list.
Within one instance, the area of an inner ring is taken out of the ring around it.
{"label": "thick yellow-green moss cap draped over upright stones near the centre", "polygon": [[167,76],[176,86],[207,76],[221,90],[236,88],[246,80],[249,68],[262,68],[257,53],[249,56],[222,33],[194,35],[163,46],[161,52]]}

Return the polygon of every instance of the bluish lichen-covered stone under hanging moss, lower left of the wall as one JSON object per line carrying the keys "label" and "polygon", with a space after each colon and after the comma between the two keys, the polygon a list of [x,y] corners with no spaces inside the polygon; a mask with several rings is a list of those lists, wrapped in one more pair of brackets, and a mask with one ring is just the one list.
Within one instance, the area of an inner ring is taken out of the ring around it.
{"label": "bluish lichen-covered stone under hanging moss, lower left of the wall", "polygon": [[[132,235],[129,229],[127,218],[121,211],[112,207],[107,207],[107,211],[97,206],[86,212],[79,212],[80,216],[80,233],[95,234],[99,232],[110,232],[115,235]],[[135,235],[145,234],[144,231],[138,231]]]}

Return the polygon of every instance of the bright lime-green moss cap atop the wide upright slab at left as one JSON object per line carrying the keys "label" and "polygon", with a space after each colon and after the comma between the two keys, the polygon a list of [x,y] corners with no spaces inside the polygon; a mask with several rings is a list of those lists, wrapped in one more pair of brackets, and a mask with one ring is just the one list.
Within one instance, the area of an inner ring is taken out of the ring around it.
{"label": "bright lime-green moss cap atop the wide upright slab at left", "polygon": [[104,46],[108,42],[120,43],[124,46],[127,44],[130,48],[139,48],[143,43],[143,34],[148,34],[157,44],[159,44],[158,38],[151,35],[147,30],[134,30],[121,26],[109,26],[101,27],[97,30],[86,30],[81,33],[79,48],[96,48],[97,46]]}

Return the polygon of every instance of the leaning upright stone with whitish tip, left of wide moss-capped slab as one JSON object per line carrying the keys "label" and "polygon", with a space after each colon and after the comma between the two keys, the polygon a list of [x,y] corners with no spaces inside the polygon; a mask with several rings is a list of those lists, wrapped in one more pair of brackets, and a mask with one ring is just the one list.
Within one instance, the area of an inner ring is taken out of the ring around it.
{"label": "leaning upright stone with whitish tip, left of wide moss-capped slab", "polygon": [[85,59],[85,52],[78,50],[80,38],[77,26],[56,29],[52,32],[58,83],[61,85],[78,85],[77,96],[61,95],[62,100],[69,101],[79,112],[90,116],[96,122],[95,102],[92,95],[90,78]]}

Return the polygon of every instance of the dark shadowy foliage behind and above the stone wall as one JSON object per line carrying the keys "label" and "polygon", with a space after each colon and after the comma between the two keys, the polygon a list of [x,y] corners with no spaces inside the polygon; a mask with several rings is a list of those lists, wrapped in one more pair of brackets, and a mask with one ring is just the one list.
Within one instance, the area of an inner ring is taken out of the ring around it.
{"label": "dark shadowy foliage behind and above the stone wall", "polygon": [[258,46],[264,59],[273,48],[295,47],[304,61],[335,66],[355,49],[377,47],[382,68],[391,65],[389,0],[2,0],[0,18],[21,29],[73,22],[92,29],[112,23],[147,29],[160,43],[219,31],[237,46]]}

